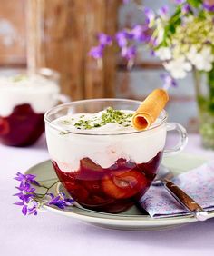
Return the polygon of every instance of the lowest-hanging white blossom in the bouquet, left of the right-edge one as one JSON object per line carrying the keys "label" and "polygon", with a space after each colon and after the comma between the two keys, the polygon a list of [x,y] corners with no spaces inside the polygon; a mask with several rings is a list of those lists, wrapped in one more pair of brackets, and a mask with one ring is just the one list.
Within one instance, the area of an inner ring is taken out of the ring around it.
{"label": "lowest-hanging white blossom in the bouquet, left of the right-edge one", "polygon": [[164,63],[163,66],[175,79],[184,78],[187,75],[187,72],[189,72],[192,68],[190,62],[188,62],[184,56],[180,56],[179,58],[171,60],[168,63]]}

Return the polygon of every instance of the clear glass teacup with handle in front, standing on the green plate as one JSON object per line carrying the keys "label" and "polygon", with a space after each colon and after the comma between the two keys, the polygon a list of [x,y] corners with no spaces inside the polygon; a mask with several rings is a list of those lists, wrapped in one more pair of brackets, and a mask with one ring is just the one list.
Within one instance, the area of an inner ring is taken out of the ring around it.
{"label": "clear glass teacup with handle in front, standing on the green plate", "polygon": [[[83,207],[112,213],[129,209],[151,186],[162,156],[183,149],[186,130],[179,123],[167,123],[164,110],[158,121],[142,132],[71,132],[54,121],[75,113],[98,113],[107,107],[135,111],[140,103],[94,99],[65,103],[45,113],[46,140],[54,170],[64,188]],[[180,142],[165,150],[169,130],[180,133]]]}

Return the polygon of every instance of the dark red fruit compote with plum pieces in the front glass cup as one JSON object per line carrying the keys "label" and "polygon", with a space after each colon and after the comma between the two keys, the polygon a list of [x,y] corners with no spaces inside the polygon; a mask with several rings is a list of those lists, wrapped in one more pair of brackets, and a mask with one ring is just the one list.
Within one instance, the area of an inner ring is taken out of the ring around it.
{"label": "dark red fruit compote with plum pieces in the front glass cup", "polygon": [[83,158],[77,172],[63,172],[54,161],[53,167],[76,202],[95,211],[117,213],[129,209],[149,189],[161,157],[160,152],[141,164],[120,158],[106,169]]}

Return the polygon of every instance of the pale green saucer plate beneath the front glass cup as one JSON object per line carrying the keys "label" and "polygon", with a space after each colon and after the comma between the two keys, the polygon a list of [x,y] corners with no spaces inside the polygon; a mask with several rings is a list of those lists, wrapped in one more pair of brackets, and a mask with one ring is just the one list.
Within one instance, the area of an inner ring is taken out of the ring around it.
{"label": "pale green saucer plate beneath the front glass cup", "polygon": [[[187,172],[190,169],[196,168],[204,162],[208,162],[208,160],[199,158],[195,155],[193,156],[190,154],[180,153],[177,156],[164,159],[162,163],[169,167],[175,175],[178,175],[181,172]],[[44,186],[50,187],[55,183],[50,189],[50,192],[53,194],[63,191],[63,186],[60,182],[57,182],[58,178],[55,175],[50,161],[36,164],[25,173],[36,175],[36,181],[40,182]],[[41,190],[43,189],[36,187],[36,192],[42,192]],[[95,226],[117,230],[160,231],[176,228],[191,222],[198,222],[191,215],[153,219],[146,212],[140,211],[135,206],[131,207],[131,209],[126,212],[118,214],[95,212],[84,209],[78,204],[68,207],[66,210],[46,205],[44,205],[44,209],[79,221],[87,222]],[[214,217],[214,211],[209,212],[209,218],[212,217]]]}

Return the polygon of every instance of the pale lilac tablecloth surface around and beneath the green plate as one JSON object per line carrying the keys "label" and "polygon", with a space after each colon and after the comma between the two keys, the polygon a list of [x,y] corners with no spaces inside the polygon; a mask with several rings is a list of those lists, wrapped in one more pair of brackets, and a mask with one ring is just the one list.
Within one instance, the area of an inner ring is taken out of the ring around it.
{"label": "pale lilac tablecloth surface around and beneath the green plate", "polygon": [[[190,135],[186,153],[214,159]],[[0,255],[214,255],[214,218],[170,231],[115,231],[52,212],[24,217],[13,205],[16,172],[49,158],[44,138],[29,148],[0,146]]]}

